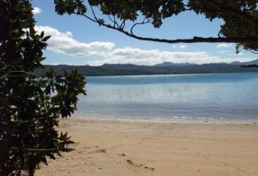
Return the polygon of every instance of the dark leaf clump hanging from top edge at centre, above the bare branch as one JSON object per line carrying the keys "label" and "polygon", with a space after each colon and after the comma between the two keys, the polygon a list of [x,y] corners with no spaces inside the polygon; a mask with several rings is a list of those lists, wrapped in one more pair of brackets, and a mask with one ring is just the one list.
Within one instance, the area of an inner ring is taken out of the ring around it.
{"label": "dark leaf clump hanging from top edge at centre, above the bare branch", "polygon": [[107,1],[89,0],[89,4],[98,6],[103,14],[117,15],[120,20],[136,21],[139,13],[147,19],[152,19],[154,27],[159,28],[162,19],[177,15],[185,10],[181,0],[131,0],[131,1]]}

